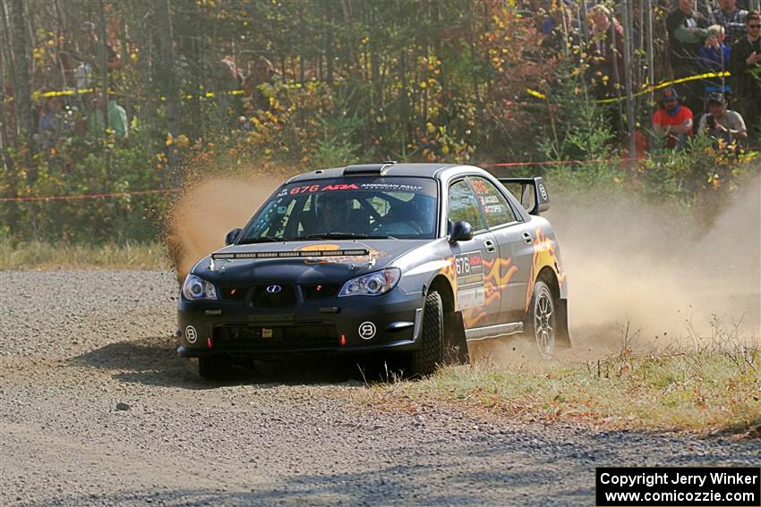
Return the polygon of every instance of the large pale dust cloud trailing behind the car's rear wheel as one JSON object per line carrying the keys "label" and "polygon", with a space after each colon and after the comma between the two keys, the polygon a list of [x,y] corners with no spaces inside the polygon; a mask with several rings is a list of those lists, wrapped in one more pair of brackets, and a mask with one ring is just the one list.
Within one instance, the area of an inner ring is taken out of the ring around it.
{"label": "large pale dust cloud trailing behind the car's rear wheel", "polygon": [[627,325],[640,345],[710,337],[717,326],[757,342],[761,178],[710,225],[697,220],[700,210],[679,214],[666,202],[555,194],[547,217],[569,276],[574,342],[620,350]]}

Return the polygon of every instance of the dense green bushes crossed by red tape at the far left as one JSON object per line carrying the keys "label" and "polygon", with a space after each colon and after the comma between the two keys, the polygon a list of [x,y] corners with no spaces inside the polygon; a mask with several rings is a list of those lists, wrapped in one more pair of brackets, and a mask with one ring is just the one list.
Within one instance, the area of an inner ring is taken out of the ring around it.
{"label": "dense green bushes crossed by red tape at the far left", "polygon": [[[26,169],[0,174],[0,192],[47,197],[159,189],[166,163],[155,138],[135,128],[128,139],[72,137],[34,155],[25,147],[11,150],[14,165]],[[52,242],[149,241],[158,234],[167,203],[160,194],[4,203],[0,233]]]}

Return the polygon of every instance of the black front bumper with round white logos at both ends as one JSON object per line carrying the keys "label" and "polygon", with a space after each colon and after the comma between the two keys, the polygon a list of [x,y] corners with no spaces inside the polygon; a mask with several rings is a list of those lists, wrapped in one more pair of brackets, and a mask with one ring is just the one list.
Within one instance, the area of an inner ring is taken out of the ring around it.
{"label": "black front bumper with round white logos at both ends", "polygon": [[419,348],[423,294],[398,288],[382,296],[300,300],[293,308],[180,298],[183,357],[261,357],[299,352],[364,353]]}

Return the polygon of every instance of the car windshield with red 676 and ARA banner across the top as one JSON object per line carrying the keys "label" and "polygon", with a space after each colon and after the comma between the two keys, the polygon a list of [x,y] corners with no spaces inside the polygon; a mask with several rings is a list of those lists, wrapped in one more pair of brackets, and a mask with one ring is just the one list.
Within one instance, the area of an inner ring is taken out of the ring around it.
{"label": "car windshield with red 676 and ARA banner across the top", "polygon": [[428,178],[354,176],[290,183],[246,226],[237,244],[310,239],[431,239],[437,186]]}

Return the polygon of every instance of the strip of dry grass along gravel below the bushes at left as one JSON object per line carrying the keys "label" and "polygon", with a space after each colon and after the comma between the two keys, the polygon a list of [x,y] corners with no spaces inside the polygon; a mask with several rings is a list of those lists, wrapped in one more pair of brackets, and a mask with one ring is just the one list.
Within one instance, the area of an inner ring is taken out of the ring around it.
{"label": "strip of dry grass along gravel below the bushes at left", "polygon": [[0,239],[0,270],[169,269],[162,243],[50,244]]}

